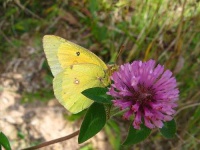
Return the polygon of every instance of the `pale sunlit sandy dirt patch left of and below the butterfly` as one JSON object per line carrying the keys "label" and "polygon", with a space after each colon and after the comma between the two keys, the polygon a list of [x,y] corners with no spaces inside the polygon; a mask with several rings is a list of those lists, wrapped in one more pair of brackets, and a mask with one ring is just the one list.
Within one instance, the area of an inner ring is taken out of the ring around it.
{"label": "pale sunlit sandy dirt patch left of and below the butterfly", "polygon": [[[13,59],[0,78],[0,131],[8,136],[13,150],[19,150],[44,141],[60,138],[77,131],[82,120],[75,122],[65,119],[69,114],[56,99],[41,102],[22,103],[22,94],[45,87],[41,63],[43,56],[30,59]],[[32,68],[32,69],[30,69]],[[48,146],[45,150],[77,150],[85,145],[92,149],[109,150],[110,144],[103,131],[83,144],[77,136]]]}

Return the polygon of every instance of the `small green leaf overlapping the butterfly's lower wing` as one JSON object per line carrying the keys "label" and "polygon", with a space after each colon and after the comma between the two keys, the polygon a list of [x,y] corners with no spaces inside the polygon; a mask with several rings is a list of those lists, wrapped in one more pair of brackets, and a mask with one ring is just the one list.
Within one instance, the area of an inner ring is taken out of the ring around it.
{"label": "small green leaf overlapping the butterfly's lower wing", "polygon": [[112,97],[106,94],[107,91],[107,88],[94,87],[84,90],[82,94],[95,102],[111,104]]}

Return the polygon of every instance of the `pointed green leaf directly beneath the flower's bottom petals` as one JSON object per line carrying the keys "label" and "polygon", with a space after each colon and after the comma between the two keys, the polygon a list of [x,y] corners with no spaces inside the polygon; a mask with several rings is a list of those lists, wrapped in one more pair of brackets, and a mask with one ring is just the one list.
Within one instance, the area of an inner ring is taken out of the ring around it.
{"label": "pointed green leaf directly beneath the flower's bottom petals", "polygon": [[126,140],[124,141],[123,145],[133,145],[136,143],[139,143],[143,140],[145,140],[151,133],[151,130],[144,126],[144,124],[141,125],[140,130],[134,129],[133,125],[130,125],[128,136],[126,137]]}

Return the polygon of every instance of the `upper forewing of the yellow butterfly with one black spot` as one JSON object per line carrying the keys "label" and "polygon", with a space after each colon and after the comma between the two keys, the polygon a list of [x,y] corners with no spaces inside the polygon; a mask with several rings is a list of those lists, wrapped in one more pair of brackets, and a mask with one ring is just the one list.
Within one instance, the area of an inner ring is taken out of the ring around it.
{"label": "upper forewing of the yellow butterfly with one black spot", "polygon": [[107,69],[106,64],[94,53],[61,37],[45,35],[43,47],[54,76],[74,64],[90,63]]}

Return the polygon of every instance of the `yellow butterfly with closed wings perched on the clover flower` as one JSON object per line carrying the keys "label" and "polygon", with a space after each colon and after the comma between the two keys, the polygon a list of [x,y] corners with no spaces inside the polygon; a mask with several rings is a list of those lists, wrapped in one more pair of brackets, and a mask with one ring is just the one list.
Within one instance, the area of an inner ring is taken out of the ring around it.
{"label": "yellow butterfly with closed wings perched on the clover flower", "polygon": [[54,76],[54,94],[70,112],[78,113],[92,104],[82,91],[109,85],[108,67],[89,50],[54,35],[44,36],[43,47]]}

